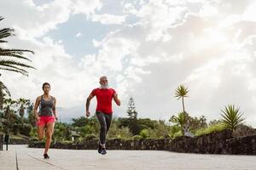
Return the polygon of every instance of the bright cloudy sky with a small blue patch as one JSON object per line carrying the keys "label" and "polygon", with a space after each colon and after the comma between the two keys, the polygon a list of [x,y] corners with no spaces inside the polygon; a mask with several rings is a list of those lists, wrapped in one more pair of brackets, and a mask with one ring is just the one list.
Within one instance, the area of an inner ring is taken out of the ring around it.
{"label": "bright cloudy sky with a small blue patch", "polygon": [[[13,98],[36,99],[51,83],[62,119],[84,115],[84,102],[108,76],[126,116],[168,120],[174,98],[189,89],[191,116],[220,118],[240,108],[256,127],[256,2],[254,0],[2,0],[0,27],[15,28],[6,48],[32,49],[29,77],[1,71]],[[95,110],[96,100],[90,111]]]}

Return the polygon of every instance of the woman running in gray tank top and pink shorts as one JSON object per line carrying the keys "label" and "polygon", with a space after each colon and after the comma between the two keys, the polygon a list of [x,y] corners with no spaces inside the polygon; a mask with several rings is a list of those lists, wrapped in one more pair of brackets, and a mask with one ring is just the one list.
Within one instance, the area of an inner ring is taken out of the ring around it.
{"label": "woman running in gray tank top and pink shorts", "polygon": [[[44,159],[49,159],[47,154],[49,150],[49,145],[51,142],[51,136],[54,132],[55,120],[57,120],[55,105],[56,99],[49,95],[50,85],[48,82],[44,82],[43,91],[44,94],[38,96],[34,106],[34,115],[37,119],[38,124],[38,139],[42,140],[44,138],[45,132],[45,149],[44,149]],[[38,111],[39,106],[39,111]]]}

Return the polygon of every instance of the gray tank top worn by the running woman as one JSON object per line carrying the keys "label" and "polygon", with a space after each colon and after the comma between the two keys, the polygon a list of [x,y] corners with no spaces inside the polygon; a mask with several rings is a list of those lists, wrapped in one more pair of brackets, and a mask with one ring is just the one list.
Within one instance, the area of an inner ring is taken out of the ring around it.
{"label": "gray tank top worn by the running woman", "polygon": [[50,97],[50,100],[44,100],[41,96],[41,102],[39,107],[39,116],[53,116],[54,99]]}

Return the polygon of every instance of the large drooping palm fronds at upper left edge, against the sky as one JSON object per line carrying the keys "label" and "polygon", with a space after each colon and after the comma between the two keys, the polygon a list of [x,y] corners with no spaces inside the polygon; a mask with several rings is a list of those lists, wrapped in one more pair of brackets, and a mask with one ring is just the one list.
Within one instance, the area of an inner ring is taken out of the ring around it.
{"label": "large drooping palm fronds at upper left edge, against the sky", "polygon": [[[3,20],[2,16],[0,16],[0,21],[1,20]],[[3,38],[15,36],[15,34],[13,33],[14,31],[15,30],[11,28],[0,29],[0,43],[7,42],[6,40],[3,40]],[[5,49],[0,47],[0,70],[15,71],[28,76],[28,72],[25,69],[35,68],[31,65],[26,65],[25,63],[17,60],[25,59],[27,61],[31,61],[31,59],[28,59],[24,56],[24,52],[34,54],[33,51],[27,49]]]}

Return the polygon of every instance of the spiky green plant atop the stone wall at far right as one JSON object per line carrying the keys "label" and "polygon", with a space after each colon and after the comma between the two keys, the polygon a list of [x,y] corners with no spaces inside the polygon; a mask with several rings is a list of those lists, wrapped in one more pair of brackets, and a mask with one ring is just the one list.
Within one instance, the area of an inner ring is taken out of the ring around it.
{"label": "spiky green plant atop the stone wall at far right", "polygon": [[221,110],[224,114],[220,114],[223,117],[223,122],[226,127],[234,131],[238,124],[244,121],[241,118],[242,113],[239,111],[239,108],[235,108],[235,105],[225,106],[224,111]]}

